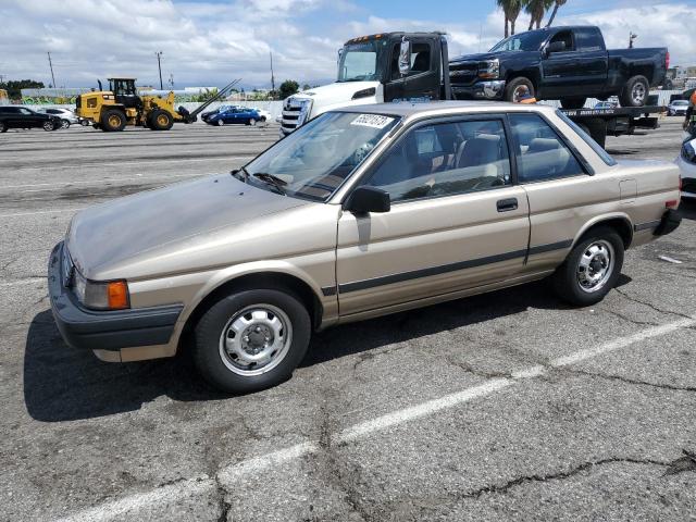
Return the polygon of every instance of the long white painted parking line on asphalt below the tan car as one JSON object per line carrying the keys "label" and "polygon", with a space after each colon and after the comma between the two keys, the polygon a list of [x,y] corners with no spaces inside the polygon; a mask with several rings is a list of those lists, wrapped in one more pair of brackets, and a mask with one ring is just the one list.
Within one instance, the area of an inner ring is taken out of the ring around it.
{"label": "long white painted parking line on asphalt below the tan car", "polygon": [[[455,394],[446,395],[444,397],[421,402],[420,405],[377,417],[376,419],[355,424],[336,434],[333,437],[333,440],[334,443],[349,443],[358,438],[366,437],[389,427],[398,426],[415,419],[421,419],[443,410],[455,408],[473,399],[488,396],[495,391],[510,387],[520,381],[537,377],[546,373],[549,366],[559,368],[574,364],[604,353],[625,348],[645,339],[667,335],[678,330],[694,325],[696,325],[696,319],[682,319],[672,323],[652,326],[636,334],[610,340],[595,348],[579,350],[570,353],[569,356],[552,359],[547,363],[547,365],[534,365],[521,369],[513,372],[510,377],[493,378],[478,386],[465,388]],[[217,483],[226,486],[234,486],[238,483],[240,477],[263,472],[264,470],[284,462],[316,453],[320,449],[321,447],[318,442],[308,440],[271,453],[253,457],[219,470]],[[194,484],[191,484],[192,482]],[[213,487],[216,487],[216,484],[212,480],[208,478],[207,475],[203,475],[202,477],[187,480],[174,485],[152,489],[148,493],[129,495],[121,499],[102,504],[95,508],[79,511],[73,515],[62,519],[62,521],[82,522],[112,520],[126,512],[132,514],[133,511],[137,510],[139,507],[152,507],[154,504],[162,505],[176,502],[186,496],[190,496],[191,488],[195,487],[198,487],[200,493],[203,493],[209,489],[212,490]]]}

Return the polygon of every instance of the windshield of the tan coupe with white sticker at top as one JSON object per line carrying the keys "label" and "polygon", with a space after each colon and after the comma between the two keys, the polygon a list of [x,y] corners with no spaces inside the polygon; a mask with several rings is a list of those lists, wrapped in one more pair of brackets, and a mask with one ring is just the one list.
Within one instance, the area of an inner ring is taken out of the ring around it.
{"label": "windshield of the tan coupe with white sticker at top", "polygon": [[286,196],[325,201],[397,121],[381,114],[324,113],[246,165],[246,179]]}

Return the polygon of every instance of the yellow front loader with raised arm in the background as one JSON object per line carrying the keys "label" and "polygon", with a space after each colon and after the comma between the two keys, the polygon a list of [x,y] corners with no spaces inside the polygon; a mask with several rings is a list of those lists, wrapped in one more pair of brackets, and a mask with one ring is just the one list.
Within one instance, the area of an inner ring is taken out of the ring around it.
{"label": "yellow front loader with raised arm in the background", "polygon": [[169,130],[174,123],[194,123],[198,114],[232,90],[239,79],[232,82],[194,112],[184,107],[174,109],[174,92],[166,96],[138,95],[136,78],[109,78],[109,90],[85,92],[77,97],[77,115],[104,132],[123,130],[138,125],[152,130]]}

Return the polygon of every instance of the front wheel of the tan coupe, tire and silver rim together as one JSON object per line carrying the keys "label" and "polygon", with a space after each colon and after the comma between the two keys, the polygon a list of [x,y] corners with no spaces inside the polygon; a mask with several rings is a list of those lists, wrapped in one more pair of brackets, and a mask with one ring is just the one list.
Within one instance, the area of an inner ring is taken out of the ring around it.
{"label": "front wheel of the tan coupe, tire and silver rim together", "polygon": [[233,394],[247,394],[288,380],[300,363],[311,321],[291,294],[257,289],[213,304],[195,328],[194,360],[203,377]]}

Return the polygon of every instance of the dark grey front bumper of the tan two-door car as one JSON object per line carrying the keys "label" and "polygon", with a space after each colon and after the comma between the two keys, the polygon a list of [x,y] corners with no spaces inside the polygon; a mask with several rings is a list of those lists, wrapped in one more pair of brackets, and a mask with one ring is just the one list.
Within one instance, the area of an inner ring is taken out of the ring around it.
{"label": "dark grey front bumper of the tan two-door car", "polygon": [[49,258],[48,290],[53,318],[65,343],[89,350],[169,343],[183,304],[114,311],[85,309],[63,281],[63,241],[55,245]]}

